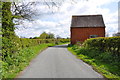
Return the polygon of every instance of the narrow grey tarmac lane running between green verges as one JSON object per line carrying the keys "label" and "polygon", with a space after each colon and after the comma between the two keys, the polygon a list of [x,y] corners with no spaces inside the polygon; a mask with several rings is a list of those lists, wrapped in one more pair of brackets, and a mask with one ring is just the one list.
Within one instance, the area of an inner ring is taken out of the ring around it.
{"label": "narrow grey tarmac lane running between green verges", "polygon": [[41,52],[18,78],[103,78],[91,66],[77,59],[67,45],[49,47]]}

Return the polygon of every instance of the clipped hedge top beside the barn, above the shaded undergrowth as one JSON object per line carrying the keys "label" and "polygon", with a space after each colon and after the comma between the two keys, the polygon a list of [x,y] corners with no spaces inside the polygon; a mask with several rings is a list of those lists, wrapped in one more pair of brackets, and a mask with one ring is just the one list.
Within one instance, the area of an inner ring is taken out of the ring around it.
{"label": "clipped hedge top beside the barn, above the shaded undergrowth", "polygon": [[84,42],[84,46],[89,49],[110,52],[114,56],[120,56],[120,37],[90,38]]}

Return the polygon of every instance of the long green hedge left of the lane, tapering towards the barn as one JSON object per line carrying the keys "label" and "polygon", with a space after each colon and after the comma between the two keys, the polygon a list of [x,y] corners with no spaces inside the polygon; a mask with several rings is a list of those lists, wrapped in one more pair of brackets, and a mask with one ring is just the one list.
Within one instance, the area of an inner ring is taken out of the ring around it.
{"label": "long green hedge left of the lane, tapering towards the barn", "polygon": [[28,39],[18,38],[17,36],[11,36],[10,38],[2,37],[2,55],[3,58],[16,53],[20,49],[36,46],[42,43],[65,43],[69,42],[69,39]]}

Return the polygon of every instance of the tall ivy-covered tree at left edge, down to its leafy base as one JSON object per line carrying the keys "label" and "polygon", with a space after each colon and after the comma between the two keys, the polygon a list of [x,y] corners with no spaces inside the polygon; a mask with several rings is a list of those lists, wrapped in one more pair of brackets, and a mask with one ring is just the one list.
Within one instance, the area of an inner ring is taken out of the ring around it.
{"label": "tall ivy-covered tree at left edge, down to its leafy base", "polygon": [[14,15],[11,12],[12,2],[0,2],[2,4],[2,59],[12,56],[13,53],[18,51],[19,45],[15,41],[19,38],[14,32]]}

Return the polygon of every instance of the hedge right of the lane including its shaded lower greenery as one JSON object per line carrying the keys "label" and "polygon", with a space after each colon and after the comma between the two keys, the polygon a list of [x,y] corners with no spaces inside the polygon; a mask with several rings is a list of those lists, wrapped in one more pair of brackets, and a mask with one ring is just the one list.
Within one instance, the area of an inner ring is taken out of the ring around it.
{"label": "hedge right of the lane including its shaded lower greenery", "polygon": [[106,62],[120,61],[120,37],[93,38],[84,42],[84,47],[90,52],[99,51],[99,58]]}

